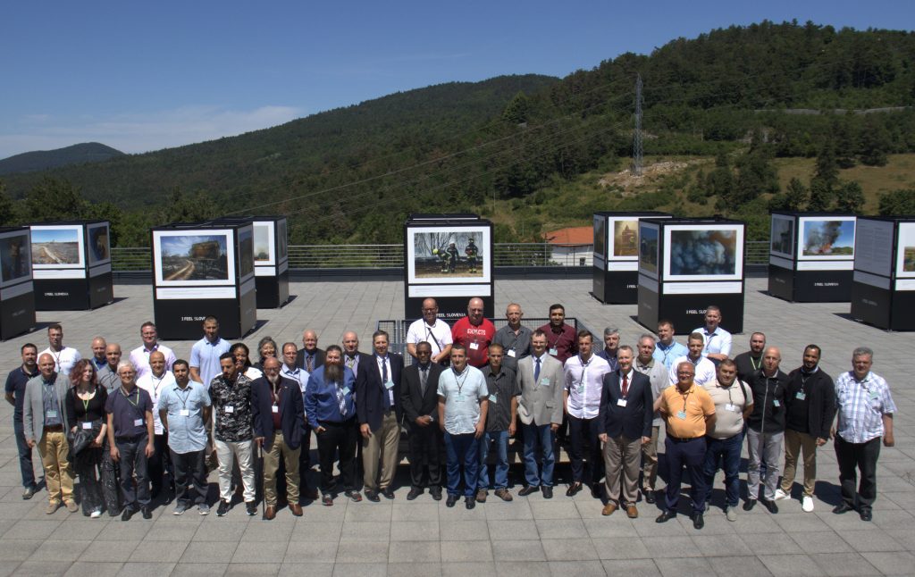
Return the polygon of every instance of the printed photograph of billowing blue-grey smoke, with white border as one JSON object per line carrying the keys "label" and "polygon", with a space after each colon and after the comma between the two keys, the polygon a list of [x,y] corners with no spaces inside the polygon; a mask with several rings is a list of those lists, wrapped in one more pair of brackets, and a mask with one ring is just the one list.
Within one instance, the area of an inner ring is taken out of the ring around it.
{"label": "printed photograph of billowing blue-grey smoke, with white border", "polygon": [[665,279],[739,281],[743,278],[743,225],[672,225],[664,229],[664,234]]}

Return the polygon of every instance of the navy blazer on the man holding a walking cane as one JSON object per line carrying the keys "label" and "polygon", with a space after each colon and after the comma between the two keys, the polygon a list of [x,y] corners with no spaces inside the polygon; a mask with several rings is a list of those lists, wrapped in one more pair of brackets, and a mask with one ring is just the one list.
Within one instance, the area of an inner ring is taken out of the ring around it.
{"label": "navy blazer on the man holding a walking cane", "polygon": [[[266,377],[251,383],[251,412],[254,417],[254,436],[264,437],[264,451],[274,443],[274,392]],[[283,440],[293,450],[302,444],[305,433],[305,404],[298,382],[280,376],[280,424]]]}

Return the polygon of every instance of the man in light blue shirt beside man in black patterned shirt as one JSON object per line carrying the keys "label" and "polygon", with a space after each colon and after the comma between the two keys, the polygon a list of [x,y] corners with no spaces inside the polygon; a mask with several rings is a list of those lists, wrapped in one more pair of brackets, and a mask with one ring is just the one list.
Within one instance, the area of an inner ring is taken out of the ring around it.
{"label": "man in light blue shirt beside man in black patterned shirt", "polygon": [[[190,380],[188,361],[178,358],[172,365],[175,382],[159,396],[159,419],[168,432],[168,452],[175,467],[175,515],[192,504],[200,515],[210,513],[207,505],[207,428],[210,422],[210,394],[199,382]],[[193,490],[191,490],[193,487]]]}

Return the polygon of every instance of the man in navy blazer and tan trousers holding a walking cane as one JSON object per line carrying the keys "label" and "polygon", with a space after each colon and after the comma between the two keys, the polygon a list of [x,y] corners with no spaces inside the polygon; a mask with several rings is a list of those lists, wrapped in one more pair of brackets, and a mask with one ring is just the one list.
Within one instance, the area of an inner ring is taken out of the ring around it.
{"label": "man in navy blazer and tan trousers holding a walking cane", "polygon": [[298,455],[305,433],[305,404],[299,384],[280,375],[279,359],[266,358],[264,376],[251,383],[251,412],[254,442],[264,450],[264,518],[276,517],[276,472],[280,458],[285,464],[289,510],[301,517]]}

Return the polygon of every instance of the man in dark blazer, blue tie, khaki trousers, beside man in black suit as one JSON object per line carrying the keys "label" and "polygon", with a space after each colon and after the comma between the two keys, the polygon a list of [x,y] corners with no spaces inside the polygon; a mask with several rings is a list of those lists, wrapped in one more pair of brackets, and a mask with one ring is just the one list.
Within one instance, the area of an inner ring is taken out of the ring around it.
{"label": "man in dark blazer, blue tie, khaki trousers, beside man in black suit", "polygon": [[[375,331],[371,336],[375,354],[370,362],[360,363],[356,373],[356,416],[362,434],[362,470],[365,497],[378,502],[378,493],[393,499],[391,486],[397,468],[400,442],[401,373],[404,358],[388,353],[388,334]],[[381,477],[378,462],[381,458]]]}

